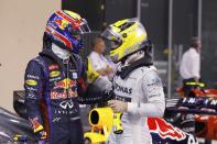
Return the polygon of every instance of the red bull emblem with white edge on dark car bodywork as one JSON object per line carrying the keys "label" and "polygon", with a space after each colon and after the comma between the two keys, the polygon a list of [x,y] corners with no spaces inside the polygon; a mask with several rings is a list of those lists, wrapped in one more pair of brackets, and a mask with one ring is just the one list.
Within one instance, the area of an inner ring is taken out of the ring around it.
{"label": "red bull emblem with white edge on dark car bodywork", "polygon": [[148,118],[149,130],[152,133],[158,133],[162,139],[171,139],[182,141],[186,139],[186,134],[178,128],[174,128],[165,120],[160,118]]}

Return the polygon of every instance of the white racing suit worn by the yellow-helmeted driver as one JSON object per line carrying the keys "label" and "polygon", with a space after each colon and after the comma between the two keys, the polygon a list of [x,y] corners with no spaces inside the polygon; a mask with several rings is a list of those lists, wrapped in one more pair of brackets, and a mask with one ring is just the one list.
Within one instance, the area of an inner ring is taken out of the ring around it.
{"label": "white racing suit worn by the yellow-helmeted driver", "polygon": [[124,79],[113,78],[116,99],[128,102],[123,112],[122,134],[111,131],[108,144],[151,144],[147,118],[163,117],[165,99],[161,79],[154,66],[133,69]]}

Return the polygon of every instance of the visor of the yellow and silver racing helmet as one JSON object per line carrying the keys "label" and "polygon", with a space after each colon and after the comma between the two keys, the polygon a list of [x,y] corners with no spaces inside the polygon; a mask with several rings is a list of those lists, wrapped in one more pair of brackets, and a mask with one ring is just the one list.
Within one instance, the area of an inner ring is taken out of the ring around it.
{"label": "visor of the yellow and silver racing helmet", "polygon": [[120,34],[115,32],[111,26],[101,33],[101,37],[106,40],[106,43],[111,49],[116,49],[121,45]]}

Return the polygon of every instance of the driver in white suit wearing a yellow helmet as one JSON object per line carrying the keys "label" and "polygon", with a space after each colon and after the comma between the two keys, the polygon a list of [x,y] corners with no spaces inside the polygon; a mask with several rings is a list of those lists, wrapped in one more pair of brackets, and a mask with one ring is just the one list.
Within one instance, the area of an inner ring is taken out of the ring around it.
{"label": "driver in white suit wearing a yellow helmet", "polygon": [[127,19],[109,25],[101,36],[111,47],[111,59],[119,63],[115,99],[108,106],[122,113],[123,126],[122,134],[111,132],[108,144],[151,144],[147,118],[163,117],[165,99],[147,32],[139,21]]}

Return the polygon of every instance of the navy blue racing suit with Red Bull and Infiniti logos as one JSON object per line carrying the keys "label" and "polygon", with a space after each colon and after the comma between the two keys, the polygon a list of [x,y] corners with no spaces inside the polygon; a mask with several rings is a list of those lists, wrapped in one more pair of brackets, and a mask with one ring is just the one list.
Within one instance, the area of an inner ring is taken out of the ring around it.
{"label": "navy blue racing suit with Red Bull and Infiniti logos", "polygon": [[87,93],[85,68],[80,57],[72,54],[63,62],[44,49],[29,62],[25,70],[25,107],[35,137],[42,132],[51,144],[83,144],[79,100],[96,102]]}

